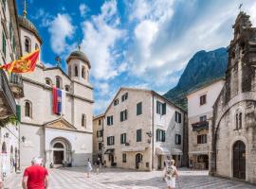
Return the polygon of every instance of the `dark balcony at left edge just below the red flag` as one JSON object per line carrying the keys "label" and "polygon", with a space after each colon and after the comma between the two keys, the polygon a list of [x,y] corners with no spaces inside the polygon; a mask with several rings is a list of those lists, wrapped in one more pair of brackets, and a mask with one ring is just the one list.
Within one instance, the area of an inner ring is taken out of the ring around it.
{"label": "dark balcony at left edge just below the red flag", "polygon": [[0,70],[0,98],[1,111],[0,118],[6,118],[10,115],[16,114],[16,102],[12,94],[8,78],[3,70]]}

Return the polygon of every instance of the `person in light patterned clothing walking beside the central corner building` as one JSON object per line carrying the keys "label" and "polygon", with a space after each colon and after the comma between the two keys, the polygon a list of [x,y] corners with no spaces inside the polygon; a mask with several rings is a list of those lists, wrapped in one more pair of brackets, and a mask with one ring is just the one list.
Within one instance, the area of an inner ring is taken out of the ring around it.
{"label": "person in light patterned clothing walking beside the central corner building", "polygon": [[174,166],[175,161],[171,160],[170,163],[166,164],[165,180],[168,189],[175,188],[175,180],[178,177],[177,168]]}

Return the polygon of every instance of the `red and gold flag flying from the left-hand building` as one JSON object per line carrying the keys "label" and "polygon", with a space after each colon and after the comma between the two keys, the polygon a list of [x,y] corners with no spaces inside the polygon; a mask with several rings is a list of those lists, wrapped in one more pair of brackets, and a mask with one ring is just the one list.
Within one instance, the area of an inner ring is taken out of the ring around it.
{"label": "red and gold flag flying from the left-hand building", "polygon": [[0,68],[7,70],[9,73],[30,73],[34,71],[38,58],[39,49],[20,58],[19,60],[14,60],[8,64],[2,65]]}

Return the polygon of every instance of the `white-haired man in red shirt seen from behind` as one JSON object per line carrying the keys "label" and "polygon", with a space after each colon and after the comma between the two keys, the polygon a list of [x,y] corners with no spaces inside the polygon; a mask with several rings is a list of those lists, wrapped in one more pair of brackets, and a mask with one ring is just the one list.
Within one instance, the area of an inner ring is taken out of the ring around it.
{"label": "white-haired man in red shirt seen from behind", "polygon": [[24,171],[22,186],[24,189],[47,189],[48,188],[48,172],[42,166],[41,158],[33,158],[32,165]]}

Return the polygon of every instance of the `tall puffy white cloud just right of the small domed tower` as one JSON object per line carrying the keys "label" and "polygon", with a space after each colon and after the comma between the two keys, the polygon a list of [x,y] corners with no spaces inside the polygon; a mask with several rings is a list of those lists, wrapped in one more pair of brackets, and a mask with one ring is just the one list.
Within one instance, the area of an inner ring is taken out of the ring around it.
{"label": "tall puffy white cloud just right of the small domed tower", "polygon": [[117,2],[105,2],[101,14],[84,21],[82,27],[82,48],[92,63],[92,76],[104,80],[118,76],[125,66],[118,62],[120,53],[116,44],[125,31],[119,29]]}

